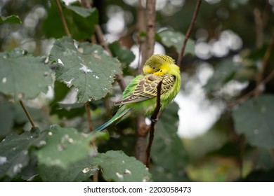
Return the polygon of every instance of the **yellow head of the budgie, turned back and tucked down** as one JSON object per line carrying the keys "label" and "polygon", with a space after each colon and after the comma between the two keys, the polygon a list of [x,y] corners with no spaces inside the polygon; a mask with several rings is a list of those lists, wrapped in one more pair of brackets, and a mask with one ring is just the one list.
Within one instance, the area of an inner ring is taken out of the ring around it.
{"label": "yellow head of the budgie, turned back and tucked down", "polygon": [[143,66],[143,73],[145,75],[152,73],[163,76],[164,74],[169,73],[173,66],[177,65],[171,57],[167,55],[152,55]]}

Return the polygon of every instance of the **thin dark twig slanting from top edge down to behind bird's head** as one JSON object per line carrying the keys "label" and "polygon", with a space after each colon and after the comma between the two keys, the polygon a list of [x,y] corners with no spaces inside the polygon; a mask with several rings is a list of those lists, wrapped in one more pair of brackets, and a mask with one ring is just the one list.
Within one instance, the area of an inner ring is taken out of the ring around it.
{"label": "thin dark twig slanting from top edge down to behind bird's head", "polygon": [[178,59],[177,59],[177,65],[178,66],[181,66],[181,62],[182,62],[182,59],[183,59],[183,54],[185,53],[185,46],[186,46],[186,43],[188,42],[188,38],[190,38],[191,31],[193,31],[193,27],[194,27],[194,24],[196,22],[197,15],[198,15],[201,3],[202,3],[202,0],[197,0],[196,8],[195,8],[195,11],[193,13],[193,18],[191,20],[190,26],[188,27],[188,31],[185,34],[185,39],[183,40],[183,45],[182,45],[181,52],[178,55]]}

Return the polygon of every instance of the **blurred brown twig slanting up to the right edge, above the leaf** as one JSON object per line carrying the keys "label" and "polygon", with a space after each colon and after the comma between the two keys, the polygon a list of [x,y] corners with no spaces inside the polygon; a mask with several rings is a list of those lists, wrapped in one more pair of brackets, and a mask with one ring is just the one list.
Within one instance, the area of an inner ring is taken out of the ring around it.
{"label": "blurred brown twig slanting up to the right edge, above the leaf", "polygon": [[266,66],[268,64],[268,59],[270,57],[270,53],[273,48],[273,45],[274,45],[274,32],[271,37],[268,48],[266,49],[266,53],[263,55],[263,62],[261,64],[261,70],[259,71],[258,77],[256,80],[256,88],[255,88],[255,92],[254,92],[254,97],[258,97],[259,94],[261,94],[261,84],[262,84],[261,81],[263,80],[263,74],[266,71]]}

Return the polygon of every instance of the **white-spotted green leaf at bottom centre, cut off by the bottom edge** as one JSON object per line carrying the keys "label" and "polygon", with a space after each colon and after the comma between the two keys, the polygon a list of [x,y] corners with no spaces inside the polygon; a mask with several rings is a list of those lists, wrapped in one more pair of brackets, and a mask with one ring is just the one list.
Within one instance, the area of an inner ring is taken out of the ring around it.
{"label": "white-spotted green leaf at bottom centre, cut off by the bottom edge", "polygon": [[143,163],[128,157],[122,151],[107,151],[93,158],[93,164],[103,170],[106,181],[136,182],[151,181],[151,174]]}

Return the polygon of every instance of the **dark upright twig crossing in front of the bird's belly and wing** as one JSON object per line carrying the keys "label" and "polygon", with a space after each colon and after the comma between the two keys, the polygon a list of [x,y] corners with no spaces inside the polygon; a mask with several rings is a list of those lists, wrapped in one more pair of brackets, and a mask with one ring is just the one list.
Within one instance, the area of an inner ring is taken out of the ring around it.
{"label": "dark upright twig crossing in front of the bird's belly and wing", "polygon": [[157,122],[157,116],[158,116],[159,110],[161,109],[161,88],[162,88],[162,80],[157,85],[156,107],[155,107],[155,111],[152,113],[152,116],[150,118],[151,119],[150,138],[148,141],[148,148],[146,151],[147,158],[146,158],[146,162],[145,162],[145,165],[148,168],[150,168],[150,151],[151,151],[151,146],[152,146],[152,142],[154,139],[155,124]]}

